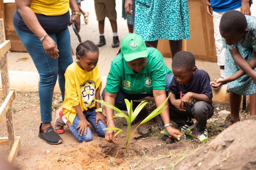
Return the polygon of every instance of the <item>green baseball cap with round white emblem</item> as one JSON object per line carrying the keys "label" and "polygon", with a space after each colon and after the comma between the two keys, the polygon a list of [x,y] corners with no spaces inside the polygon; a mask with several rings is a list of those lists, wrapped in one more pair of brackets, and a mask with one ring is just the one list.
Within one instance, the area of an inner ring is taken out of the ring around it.
{"label": "green baseball cap with round white emblem", "polygon": [[148,57],[147,47],[143,39],[134,33],[127,34],[121,43],[121,52],[125,61]]}

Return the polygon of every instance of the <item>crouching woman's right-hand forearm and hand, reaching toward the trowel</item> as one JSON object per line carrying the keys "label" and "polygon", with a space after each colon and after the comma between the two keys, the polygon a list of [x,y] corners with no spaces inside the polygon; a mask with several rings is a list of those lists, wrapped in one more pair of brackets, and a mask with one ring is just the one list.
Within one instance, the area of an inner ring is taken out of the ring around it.
{"label": "crouching woman's right-hand forearm and hand, reaching toward the trowel", "polygon": [[[154,96],[154,99],[156,102],[156,107],[160,106],[167,98],[165,90],[153,90],[153,96]],[[164,111],[162,111],[162,113],[160,113],[160,115],[161,115],[163,122],[166,125],[168,123],[171,123],[168,102],[166,102],[163,107],[166,107],[166,109]],[[170,134],[171,137],[174,137],[176,140],[180,140],[178,135],[181,135],[181,136],[183,135],[181,132],[179,132],[178,129],[175,129],[172,126],[168,126],[165,129],[168,132],[168,134]]]}

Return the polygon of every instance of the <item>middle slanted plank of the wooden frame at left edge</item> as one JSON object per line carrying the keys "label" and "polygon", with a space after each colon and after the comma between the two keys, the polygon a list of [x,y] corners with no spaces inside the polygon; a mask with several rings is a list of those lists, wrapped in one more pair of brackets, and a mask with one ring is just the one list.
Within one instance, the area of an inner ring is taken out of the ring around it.
{"label": "middle slanted plank of the wooden frame at left edge", "polygon": [[8,96],[6,97],[6,99],[4,100],[3,104],[0,107],[0,121],[3,120],[4,116],[6,115],[6,113],[9,111],[10,107],[11,107],[11,103],[12,101],[14,101],[15,96],[16,96],[16,91],[15,90],[11,90],[8,94]]}

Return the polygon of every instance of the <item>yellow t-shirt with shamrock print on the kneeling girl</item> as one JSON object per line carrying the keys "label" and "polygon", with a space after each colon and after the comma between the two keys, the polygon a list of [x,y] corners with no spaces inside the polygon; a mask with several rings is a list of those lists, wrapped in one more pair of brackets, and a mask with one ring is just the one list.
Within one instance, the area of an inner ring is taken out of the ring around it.
{"label": "yellow t-shirt with shamrock print on the kneeling girl", "polygon": [[101,88],[98,65],[91,72],[81,69],[76,62],[65,72],[65,99],[62,104],[64,116],[73,124],[77,115],[74,106],[80,104],[82,111],[96,107],[96,90]]}

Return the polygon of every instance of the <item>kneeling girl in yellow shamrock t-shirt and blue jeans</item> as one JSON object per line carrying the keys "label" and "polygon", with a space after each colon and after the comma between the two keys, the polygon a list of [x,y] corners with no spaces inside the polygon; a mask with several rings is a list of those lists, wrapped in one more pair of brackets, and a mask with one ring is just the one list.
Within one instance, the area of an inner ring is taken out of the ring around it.
{"label": "kneeling girl in yellow shamrock t-shirt and blue jeans", "polygon": [[105,136],[106,118],[102,114],[100,103],[101,78],[98,69],[99,49],[91,41],[80,43],[76,49],[77,61],[68,66],[65,72],[65,99],[63,110],[56,113],[54,130],[62,134],[63,126],[68,125],[70,131],[79,142],[92,140],[89,123],[100,137]]}

